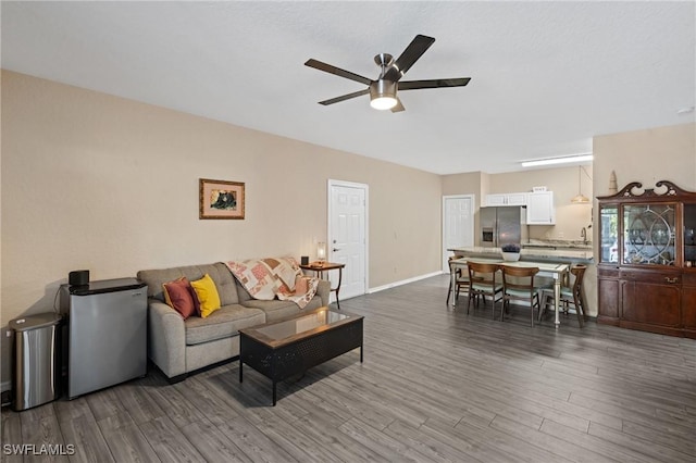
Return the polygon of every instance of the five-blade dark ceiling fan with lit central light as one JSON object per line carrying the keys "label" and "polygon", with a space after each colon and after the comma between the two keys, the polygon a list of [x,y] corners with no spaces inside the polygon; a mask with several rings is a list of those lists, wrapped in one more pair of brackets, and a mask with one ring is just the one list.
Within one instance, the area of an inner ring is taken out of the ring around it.
{"label": "five-blade dark ceiling fan with lit central light", "polygon": [[380,77],[376,80],[345,71],[331,64],[322,63],[314,59],[307,60],[306,66],[314,67],[325,73],[335,74],[350,80],[356,80],[368,86],[364,90],[341,95],[330,100],[320,101],[319,104],[334,104],[351,98],[370,93],[370,105],[377,110],[391,110],[393,113],[403,111],[403,104],[397,97],[397,90],[418,90],[421,88],[463,87],[469,84],[471,77],[438,78],[430,80],[405,80],[403,74],[411,68],[425,51],[435,42],[433,37],[417,35],[406,47],[399,58],[394,60],[389,53],[380,53],[374,57],[374,62],[380,66]]}

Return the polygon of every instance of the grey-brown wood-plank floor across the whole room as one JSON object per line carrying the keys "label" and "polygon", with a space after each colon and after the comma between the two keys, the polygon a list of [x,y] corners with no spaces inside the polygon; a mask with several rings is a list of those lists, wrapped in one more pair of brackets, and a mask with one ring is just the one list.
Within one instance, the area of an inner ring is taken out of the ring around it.
{"label": "grey-brown wood-plank floor across the whole room", "polygon": [[[696,341],[445,305],[446,276],[341,301],[358,351],[278,386],[238,363],[2,411],[2,443],[71,462],[694,462]],[[465,306],[465,304],[464,304]],[[64,447],[65,449],[65,447]],[[49,461],[5,455],[3,461]]]}

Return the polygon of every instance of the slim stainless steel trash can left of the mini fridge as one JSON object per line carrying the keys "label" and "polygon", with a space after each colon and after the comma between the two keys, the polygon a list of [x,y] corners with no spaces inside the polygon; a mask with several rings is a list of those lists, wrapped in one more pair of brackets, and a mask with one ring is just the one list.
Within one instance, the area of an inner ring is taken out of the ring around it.
{"label": "slim stainless steel trash can left of the mini fridge", "polygon": [[58,399],[60,395],[60,323],[53,312],[10,322],[14,330],[15,411]]}

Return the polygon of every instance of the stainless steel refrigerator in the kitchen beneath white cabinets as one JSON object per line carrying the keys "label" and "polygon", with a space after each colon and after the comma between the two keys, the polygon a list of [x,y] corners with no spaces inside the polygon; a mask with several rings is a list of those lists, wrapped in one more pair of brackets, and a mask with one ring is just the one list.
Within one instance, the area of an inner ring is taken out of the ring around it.
{"label": "stainless steel refrigerator in the kitchen beneath white cabinets", "polygon": [[502,245],[529,241],[526,209],[519,205],[481,208],[481,246],[499,248]]}

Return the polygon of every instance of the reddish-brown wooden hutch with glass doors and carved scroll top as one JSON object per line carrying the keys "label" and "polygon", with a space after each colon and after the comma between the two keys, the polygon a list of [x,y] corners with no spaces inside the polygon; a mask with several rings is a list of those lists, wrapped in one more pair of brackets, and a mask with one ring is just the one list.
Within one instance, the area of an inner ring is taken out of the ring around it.
{"label": "reddish-brown wooden hutch with glass doors and carved scroll top", "polygon": [[655,186],[597,197],[597,322],[696,338],[696,192]]}

